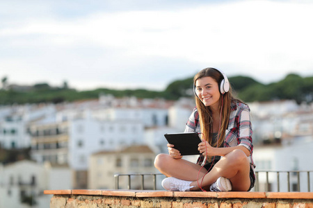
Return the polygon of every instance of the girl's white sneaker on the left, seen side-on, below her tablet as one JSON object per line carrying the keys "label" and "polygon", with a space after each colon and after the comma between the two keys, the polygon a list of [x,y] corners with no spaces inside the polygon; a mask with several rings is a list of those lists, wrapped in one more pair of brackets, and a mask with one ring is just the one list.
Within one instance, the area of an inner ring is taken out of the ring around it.
{"label": "girl's white sneaker on the left, seen side-on, below her tablet", "polygon": [[168,191],[190,191],[191,181],[180,180],[175,177],[166,177],[162,180],[162,187]]}

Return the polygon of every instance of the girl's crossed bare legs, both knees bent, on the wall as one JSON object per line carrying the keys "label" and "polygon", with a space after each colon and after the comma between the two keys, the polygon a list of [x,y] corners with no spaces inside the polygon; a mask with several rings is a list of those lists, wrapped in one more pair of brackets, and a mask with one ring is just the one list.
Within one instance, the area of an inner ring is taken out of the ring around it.
{"label": "girl's crossed bare legs, both knees bent, on the wall", "polygon": [[246,154],[238,149],[220,159],[209,173],[198,164],[166,154],[157,155],[154,166],[168,177],[191,181],[191,191],[200,190],[198,183],[202,184],[202,189],[209,190],[218,177],[228,178],[232,182],[232,191],[248,191],[250,187],[250,163]]}

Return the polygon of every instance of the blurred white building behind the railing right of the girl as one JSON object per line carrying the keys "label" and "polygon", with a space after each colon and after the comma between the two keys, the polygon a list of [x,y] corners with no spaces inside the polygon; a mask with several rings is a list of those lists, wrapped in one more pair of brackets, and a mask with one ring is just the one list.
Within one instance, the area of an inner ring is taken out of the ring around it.
{"label": "blurred white building behind the railing right of the girl", "polygon": [[[256,171],[273,171],[268,173],[269,187],[266,187],[266,174],[259,173],[259,191],[278,191],[277,173],[280,173],[280,190],[288,191],[287,187],[287,171],[303,171],[300,173],[300,190],[297,188],[297,173],[289,173],[291,191],[307,192],[307,172],[313,171],[313,138],[310,139],[294,139],[292,143],[283,145],[270,145],[255,147],[253,158],[257,164]],[[313,189],[312,184],[313,173],[310,173],[310,190]]]}

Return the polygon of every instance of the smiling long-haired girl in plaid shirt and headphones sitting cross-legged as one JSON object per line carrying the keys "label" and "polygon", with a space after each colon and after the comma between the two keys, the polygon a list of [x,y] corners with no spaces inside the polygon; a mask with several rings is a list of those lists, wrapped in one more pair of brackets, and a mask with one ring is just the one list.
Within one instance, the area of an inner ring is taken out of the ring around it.
{"label": "smiling long-haired girl in plaid shirt and headphones sitting cross-legged", "polygon": [[193,78],[196,107],[185,132],[198,132],[196,164],[182,159],[175,146],[157,155],[154,166],[166,175],[168,191],[250,191],[255,184],[252,125],[248,105],[232,96],[232,87],[218,69],[202,69]]}

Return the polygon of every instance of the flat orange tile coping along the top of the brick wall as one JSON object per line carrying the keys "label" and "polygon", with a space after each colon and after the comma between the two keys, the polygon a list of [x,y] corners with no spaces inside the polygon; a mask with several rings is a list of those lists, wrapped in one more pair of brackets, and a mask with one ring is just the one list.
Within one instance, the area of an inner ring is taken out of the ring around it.
{"label": "flat orange tile coping along the top of the brick wall", "polygon": [[180,198],[284,198],[313,199],[312,192],[202,192],[202,191],[152,191],[152,190],[90,190],[67,189],[45,190],[44,194],[53,195],[86,195],[86,196],[130,196],[137,198],[180,197]]}

